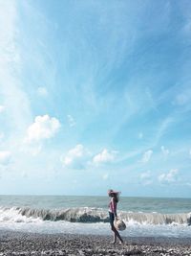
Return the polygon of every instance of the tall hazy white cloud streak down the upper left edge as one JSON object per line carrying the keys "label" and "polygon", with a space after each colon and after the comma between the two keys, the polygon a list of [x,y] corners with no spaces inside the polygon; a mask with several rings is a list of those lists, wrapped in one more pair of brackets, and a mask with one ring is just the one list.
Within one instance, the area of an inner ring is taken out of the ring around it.
{"label": "tall hazy white cloud streak down the upper left edge", "polygon": [[[31,107],[21,80],[21,47],[16,1],[0,1],[0,95],[7,111],[7,123],[18,136],[31,120]],[[4,109],[1,105],[1,111]]]}

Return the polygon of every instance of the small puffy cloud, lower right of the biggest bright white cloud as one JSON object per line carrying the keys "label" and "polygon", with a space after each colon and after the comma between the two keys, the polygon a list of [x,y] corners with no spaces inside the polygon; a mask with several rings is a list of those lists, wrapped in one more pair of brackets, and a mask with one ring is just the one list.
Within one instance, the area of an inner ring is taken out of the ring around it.
{"label": "small puffy cloud, lower right of the biggest bright white cloud", "polygon": [[87,157],[89,154],[89,151],[87,151],[83,145],[77,144],[74,149],[61,156],[60,161],[65,167],[85,169]]}

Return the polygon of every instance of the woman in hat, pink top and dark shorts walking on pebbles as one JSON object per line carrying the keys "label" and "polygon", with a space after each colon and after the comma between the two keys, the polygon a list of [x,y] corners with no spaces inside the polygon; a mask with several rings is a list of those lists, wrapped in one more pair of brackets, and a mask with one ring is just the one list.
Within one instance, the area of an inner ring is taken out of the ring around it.
{"label": "woman in hat, pink top and dark shorts walking on pebbles", "polygon": [[112,189],[108,190],[108,196],[111,198],[110,203],[109,203],[109,217],[110,217],[111,229],[114,232],[114,241],[112,242],[113,244],[116,244],[117,238],[119,239],[120,244],[123,244],[123,240],[121,239],[121,237],[114,225],[114,221],[117,218],[118,194],[119,194],[119,192],[117,192],[117,191],[114,191]]}

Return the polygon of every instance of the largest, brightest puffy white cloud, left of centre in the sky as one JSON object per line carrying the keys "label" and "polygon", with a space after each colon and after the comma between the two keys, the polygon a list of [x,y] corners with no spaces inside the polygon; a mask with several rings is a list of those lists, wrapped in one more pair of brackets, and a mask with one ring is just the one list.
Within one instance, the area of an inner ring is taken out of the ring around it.
{"label": "largest, brightest puffy white cloud, left of centre in the sky", "polygon": [[59,120],[49,115],[36,116],[34,123],[28,128],[27,141],[49,139],[60,128]]}

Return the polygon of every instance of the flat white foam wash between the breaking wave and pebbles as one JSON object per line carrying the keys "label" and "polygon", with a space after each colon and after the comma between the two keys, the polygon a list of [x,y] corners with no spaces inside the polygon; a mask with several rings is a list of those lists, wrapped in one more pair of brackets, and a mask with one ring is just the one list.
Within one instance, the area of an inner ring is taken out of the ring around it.
{"label": "flat white foam wash between the breaking wave and pebbles", "polygon": [[[104,222],[81,223],[69,221],[37,221],[37,222],[0,222],[1,230],[12,230],[44,234],[95,234],[112,235],[110,224]],[[123,237],[171,237],[190,238],[191,227],[186,225],[152,225],[128,223],[126,230],[121,232]]]}

